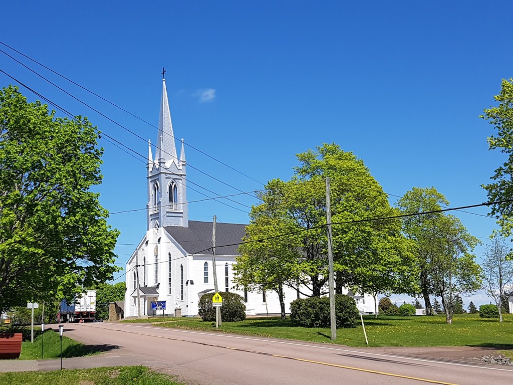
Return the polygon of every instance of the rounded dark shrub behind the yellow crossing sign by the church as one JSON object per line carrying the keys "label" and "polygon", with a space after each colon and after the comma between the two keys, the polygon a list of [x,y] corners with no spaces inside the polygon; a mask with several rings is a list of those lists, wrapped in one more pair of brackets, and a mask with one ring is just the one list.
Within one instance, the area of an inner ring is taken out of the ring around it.
{"label": "rounded dark shrub behind the yellow crossing sign by the church", "polygon": [[[204,321],[215,321],[215,307],[212,306],[212,297],[215,293],[204,294],[198,304],[199,313]],[[243,321],[246,319],[246,305],[244,298],[235,293],[220,293],[223,297],[221,318],[223,321]]]}

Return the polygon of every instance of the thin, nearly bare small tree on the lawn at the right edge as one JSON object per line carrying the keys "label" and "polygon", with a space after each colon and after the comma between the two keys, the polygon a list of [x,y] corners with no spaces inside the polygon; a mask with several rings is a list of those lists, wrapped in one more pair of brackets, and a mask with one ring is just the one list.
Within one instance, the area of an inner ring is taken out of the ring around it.
{"label": "thin, nearly bare small tree on the lawn at the right edge", "polygon": [[483,290],[497,305],[499,322],[502,322],[502,297],[506,288],[513,283],[513,260],[510,259],[510,253],[506,239],[497,234],[491,236],[484,251]]}

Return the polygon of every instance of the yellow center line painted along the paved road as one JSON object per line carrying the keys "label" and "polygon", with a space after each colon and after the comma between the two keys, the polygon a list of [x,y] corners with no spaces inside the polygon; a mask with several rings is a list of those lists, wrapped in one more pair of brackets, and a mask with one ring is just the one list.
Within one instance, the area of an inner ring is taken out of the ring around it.
{"label": "yellow center line painted along the paved road", "polygon": [[429,383],[437,383],[437,384],[440,384],[440,385],[457,385],[457,384],[451,383],[451,382],[443,382],[443,381],[438,381],[438,380],[430,380],[430,379],[427,379],[427,378],[420,378],[420,377],[404,376],[402,374],[379,372],[379,371],[370,370],[370,369],[348,367],[348,366],[339,365],[339,364],[336,364],[336,363],[329,363],[329,362],[322,362],[322,361],[312,361],[312,360],[307,360],[307,359],[304,359],[304,358],[281,356],[279,354],[271,354],[271,353],[264,353],[264,352],[255,352],[255,351],[252,351],[252,350],[246,350],[246,349],[240,349],[240,348],[230,348],[230,347],[226,347],[226,346],[222,346],[222,345],[210,344],[210,343],[198,342],[198,341],[189,341],[189,340],[180,339],[180,338],[172,338],[172,337],[157,336],[157,335],[153,335],[153,334],[129,332],[129,331],[119,330],[119,329],[102,328],[102,326],[97,326],[97,327],[100,328],[100,329],[106,329],[106,330],[111,330],[111,331],[115,330],[115,331],[118,331],[118,332],[129,333],[129,334],[137,334],[137,335],[146,336],[146,337],[165,338],[165,339],[172,340],[172,341],[195,343],[195,344],[209,346],[209,347],[213,347],[213,348],[235,350],[235,351],[239,351],[239,352],[260,354],[260,355],[263,355],[263,356],[270,356],[270,357],[287,358],[287,359],[291,359],[291,360],[294,360],[294,361],[303,361],[303,362],[309,362],[309,363],[316,363],[316,364],[319,364],[319,365],[326,365],[326,366],[334,367],[334,368],[356,370],[356,371],[359,371],[359,372],[366,372],[366,373],[372,373],[372,374],[380,374],[382,376],[406,378],[406,379],[409,379],[409,380],[423,381],[423,382],[429,382]]}

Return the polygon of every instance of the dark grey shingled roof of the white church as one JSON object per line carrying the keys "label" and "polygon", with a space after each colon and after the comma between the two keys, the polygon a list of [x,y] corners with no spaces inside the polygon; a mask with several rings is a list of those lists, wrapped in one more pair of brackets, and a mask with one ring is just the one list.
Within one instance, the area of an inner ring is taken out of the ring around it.
{"label": "dark grey shingled roof of the white church", "polygon": [[[241,223],[216,223],[215,224],[215,254],[239,255],[239,245],[218,247],[240,243],[246,235],[246,226]],[[189,254],[211,254],[212,247],[212,222],[189,221],[189,227],[166,226],[166,231]]]}

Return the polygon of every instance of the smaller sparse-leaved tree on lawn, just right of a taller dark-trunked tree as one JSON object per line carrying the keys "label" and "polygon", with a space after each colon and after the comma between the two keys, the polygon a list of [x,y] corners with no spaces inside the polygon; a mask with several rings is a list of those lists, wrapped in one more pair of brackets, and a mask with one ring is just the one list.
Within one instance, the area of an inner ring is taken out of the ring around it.
{"label": "smaller sparse-leaved tree on lawn, just right of a taller dark-trunked tree", "polygon": [[472,254],[479,240],[451,215],[439,221],[433,237],[437,240],[431,259],[433,294],[442,298],[446,322],[452,323],[457,296],[481,287],[481,267]]}

